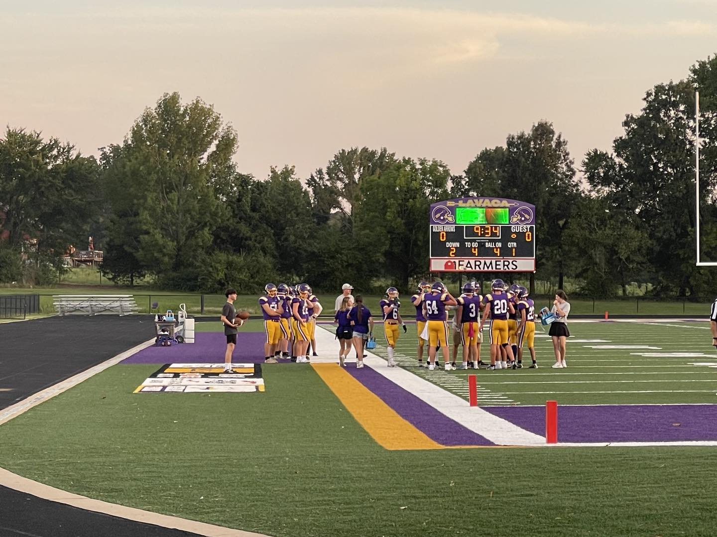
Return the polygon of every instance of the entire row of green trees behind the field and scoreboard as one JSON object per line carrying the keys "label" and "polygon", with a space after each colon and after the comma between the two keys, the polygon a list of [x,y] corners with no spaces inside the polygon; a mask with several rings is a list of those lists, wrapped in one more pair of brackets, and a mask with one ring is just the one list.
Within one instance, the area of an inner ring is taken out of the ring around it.
{"label": "entire row of green trees behind the field and scoreboard", "polygon": [[[652,283],[660,296],[711,297],[717,270],[695,266],[695,90],[701,92],[701,242],[717,261],[717,58],[655,85],[609,151],[576,166],[549,121],[485,148],[452,175],[442,161],[386,148],[341,149],[298,177],[237,168],[237,132],[212,105],[177,93],[146,108],[95,159],[8,127],[0,138],[0,282],[49,283],[68,244],[95,237],[103,273],[133,285],[256,293],[266,282],[336,290],[427,277],[429,205],[497,196],[536,206],[534,278],[590,296]],[[494,275],[483,275],[489,279]],[[513,275],[527,280],[528,275]]]}

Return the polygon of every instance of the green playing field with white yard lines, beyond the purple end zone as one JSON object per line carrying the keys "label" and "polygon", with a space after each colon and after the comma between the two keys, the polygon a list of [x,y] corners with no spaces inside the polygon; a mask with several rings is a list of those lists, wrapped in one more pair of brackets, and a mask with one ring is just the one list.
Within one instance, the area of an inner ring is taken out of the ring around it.
{"label": "green playing field with white yard lines, beyond the purple end zone", "polygon": [[[551,339],[537,328],[538,369],[487,371],[428,371],[416,361],[415,327],[401,334],[397,344],[399,365],[467,399],[467,374],[478,375],[479,404],[670,404],[717,403],[717,376],[708,366],[690,363],[715,363],[708,323],[570,323],[567,369],[551,369],[555,361]],[[376,352],[386,356],[383,327],[377,324],[374,336]],[[595,342],[580,340],[601,340]],[[481,345],[481,358],[489,361],[488,332]],[[651,346],[658,349],[609,349],[592,346]],[[459,351],[460,352],[460,351]],[[526,349],[524,365],[531,360]],[[699,353],[706,356],[655,357],[640,353]],[[426,351],[427,354],[427,351]],[[451,354],[452,356],[452,354]],[[438,353],[442,362],[442,354]],[[460,353],[458,365],[460,365]],[[456,383],[462,379],[463,383]],[[498,399],[501,398],[501,399]]]}

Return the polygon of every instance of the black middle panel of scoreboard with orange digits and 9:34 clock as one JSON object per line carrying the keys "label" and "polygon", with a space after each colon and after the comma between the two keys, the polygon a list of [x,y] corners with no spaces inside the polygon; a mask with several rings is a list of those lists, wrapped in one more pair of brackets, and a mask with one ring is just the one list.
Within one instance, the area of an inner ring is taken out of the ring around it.
{"label": "black middle panel of scoreboard with orange digits and 9:34 clock", "polygon": [[430,257],[535,257],[535,226],[432,225]]}

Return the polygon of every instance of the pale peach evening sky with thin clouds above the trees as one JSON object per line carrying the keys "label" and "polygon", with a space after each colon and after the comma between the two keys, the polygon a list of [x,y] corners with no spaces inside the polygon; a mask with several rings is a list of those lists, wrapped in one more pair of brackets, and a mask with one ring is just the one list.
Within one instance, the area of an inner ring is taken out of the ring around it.
{"label": "pale peach evening sky with thin clouds above the trees", "polygon": [[177,91],[233,125],[258,178],[352,146],[462,174],[540,120],[580,167],[715,37],[717,0],[1,0],[0,125],[98,156]]}

